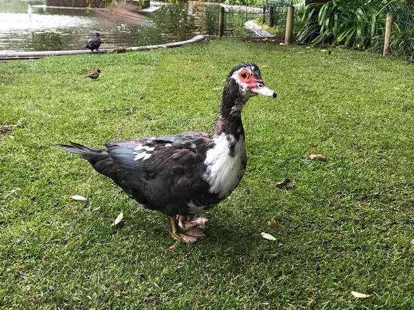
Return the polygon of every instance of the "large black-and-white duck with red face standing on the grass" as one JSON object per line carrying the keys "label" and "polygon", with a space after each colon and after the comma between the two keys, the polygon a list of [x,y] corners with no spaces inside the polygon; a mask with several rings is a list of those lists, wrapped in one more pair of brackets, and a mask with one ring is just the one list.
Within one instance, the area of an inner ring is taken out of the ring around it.
{"label": "large black-and-white duck with red face standing on the grass", "polygon": [[276,98],[264,85],[257,65],[242,63],[228,74],[219,118],[210,134],[111,141],[106,149],[72,142],[57,146],[83,156],[144,207],[166,214],[174,238],[195,242],[204,236],[206,219],[187,220],[186,216],[217,205],[244,176],[247,158],[241,112],[257,94]]}

